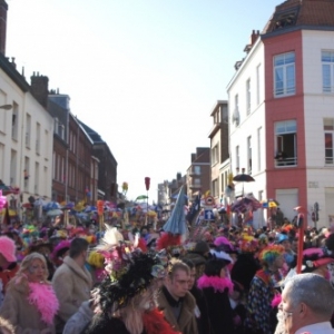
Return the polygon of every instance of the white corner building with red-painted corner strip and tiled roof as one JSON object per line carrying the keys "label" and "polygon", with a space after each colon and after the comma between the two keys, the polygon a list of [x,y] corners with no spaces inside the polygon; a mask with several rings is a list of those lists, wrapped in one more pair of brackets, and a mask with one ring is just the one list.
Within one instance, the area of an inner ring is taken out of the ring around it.
{"label": "white corner building with red-painted corner strip and tiled roof", "polygon": [[245,189],[275,198],[288,219],[302,206],[313,225],[318,203],[318,226],[334,216],[333,11],[325,0],[277,6],[228,86],[233,170],[245,168],[255,178]]}

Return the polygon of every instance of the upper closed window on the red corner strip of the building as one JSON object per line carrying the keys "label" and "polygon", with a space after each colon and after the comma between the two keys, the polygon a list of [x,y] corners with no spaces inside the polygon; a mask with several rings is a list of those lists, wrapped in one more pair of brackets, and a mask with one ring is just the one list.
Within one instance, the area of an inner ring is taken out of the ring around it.
{"label": "upper closed window on the red corner strip of the building", "polygon": [[295,52],[274,57],[275,97],[294,95],[295,82]]}

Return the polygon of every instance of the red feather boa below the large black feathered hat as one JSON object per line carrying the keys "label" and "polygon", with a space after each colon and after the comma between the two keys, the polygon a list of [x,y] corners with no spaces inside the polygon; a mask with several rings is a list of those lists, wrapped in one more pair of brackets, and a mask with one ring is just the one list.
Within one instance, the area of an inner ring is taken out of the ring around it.
{"label": "red feather boa below the large black feathered hat", "polygon": [[144,313],[143,323],[145,332],[148,334],[181,334],[173,330],[165,320],[163,312],[157,308]]}

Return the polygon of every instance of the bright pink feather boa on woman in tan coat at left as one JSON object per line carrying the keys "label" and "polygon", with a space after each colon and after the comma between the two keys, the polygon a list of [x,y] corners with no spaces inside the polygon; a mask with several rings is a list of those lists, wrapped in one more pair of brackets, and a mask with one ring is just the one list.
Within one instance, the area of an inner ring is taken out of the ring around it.
{"label": "bright pink feather boa on woman in tan coat at left", "polygon": [[52,324],[59,308],[52,286],[43,283],[29,283],[29,288],[28,302],[37,307],[45,323]]}

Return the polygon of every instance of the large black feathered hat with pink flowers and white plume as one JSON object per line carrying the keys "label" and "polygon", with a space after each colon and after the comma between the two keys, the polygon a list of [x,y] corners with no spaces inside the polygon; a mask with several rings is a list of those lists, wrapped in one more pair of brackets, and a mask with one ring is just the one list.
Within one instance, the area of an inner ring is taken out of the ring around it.
{"label": "large black feathered hat with pink flowers and white plume", "polygon": [[127,306],[156,277],[165,276],[160,254],[143,253],[136,242],[125,242],[116,228],[106,228],[101,245],[96,249],[106,258],[108,275],[95,293],[99,313],[105,315]]}

